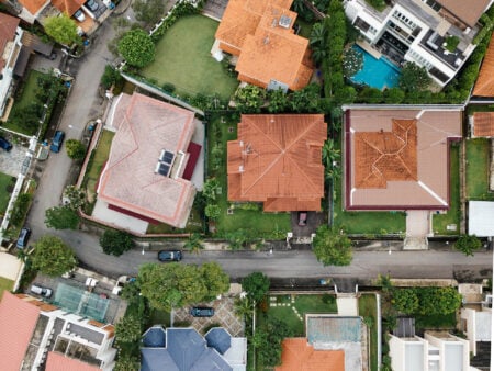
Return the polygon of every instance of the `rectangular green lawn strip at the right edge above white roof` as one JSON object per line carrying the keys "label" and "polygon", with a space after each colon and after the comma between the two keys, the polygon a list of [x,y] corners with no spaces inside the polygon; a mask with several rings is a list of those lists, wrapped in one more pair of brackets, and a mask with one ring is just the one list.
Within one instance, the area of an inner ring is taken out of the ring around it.
{"label": "rectangular green lawn strip at the right edge above white roof", "polygon": [[494,193],[489,192],[489,139],[467,140],[467,198],[469,200],[494,200]]}

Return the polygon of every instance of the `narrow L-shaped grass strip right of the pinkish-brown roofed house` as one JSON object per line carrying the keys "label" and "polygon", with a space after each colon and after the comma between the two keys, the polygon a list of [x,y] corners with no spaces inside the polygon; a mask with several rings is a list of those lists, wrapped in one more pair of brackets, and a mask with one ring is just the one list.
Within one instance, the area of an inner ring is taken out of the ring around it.
{"label": "narrow L-shaped grass strip right of the pinkish-brown roofed house", "polygon": [[[460,146],[451,145],[449,153],[449,196],[450,209],[446,214],[433,216],[433,231],[439,235],[458,235],[460,233]],[[457,231],[448,231],[449,224],[456,224]]]}

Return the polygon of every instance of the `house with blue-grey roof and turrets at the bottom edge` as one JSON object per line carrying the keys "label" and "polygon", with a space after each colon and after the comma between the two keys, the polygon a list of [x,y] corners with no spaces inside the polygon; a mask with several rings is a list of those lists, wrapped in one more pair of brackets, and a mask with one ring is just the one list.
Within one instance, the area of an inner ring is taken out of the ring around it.
{"label": "house with blue-grey roof and turrets at the bottom edge", "polygon": [[143,335],[142,371],[243,371],[247,339],[214,327],[203,337],[193,328],[153,326]]}

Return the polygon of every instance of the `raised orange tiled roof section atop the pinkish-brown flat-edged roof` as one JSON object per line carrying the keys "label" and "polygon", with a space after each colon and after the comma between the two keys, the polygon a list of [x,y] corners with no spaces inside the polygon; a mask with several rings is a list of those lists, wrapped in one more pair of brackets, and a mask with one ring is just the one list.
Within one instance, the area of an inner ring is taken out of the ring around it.
{"label": "raised orange tiled roof section atop the pinkish-brown flat-edged roof", "polygon": [[355,134],[356,188],[385,188],[393,180],[417,180],[416,120],[392,122],[391,132]]}

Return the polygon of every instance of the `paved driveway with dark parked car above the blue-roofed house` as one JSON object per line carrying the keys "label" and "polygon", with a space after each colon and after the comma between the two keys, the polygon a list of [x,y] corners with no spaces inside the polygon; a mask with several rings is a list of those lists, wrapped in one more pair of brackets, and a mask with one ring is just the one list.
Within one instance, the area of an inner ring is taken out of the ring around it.
{"label": "paved driveway with dark parked car above the blue-roofed house", "polygon": [[212,317],[192,317],[189,314],[190,307],[176,310],[173,323],[190,323],[202,335],[209,327],[216,325],[226,328],[233,337],[244,336],[244,321],[235,315],[234,301],[234,296],[224,296],[210,303],[198,304],[198,306],[213,307],[214,315]]}

